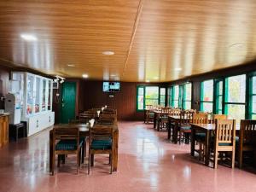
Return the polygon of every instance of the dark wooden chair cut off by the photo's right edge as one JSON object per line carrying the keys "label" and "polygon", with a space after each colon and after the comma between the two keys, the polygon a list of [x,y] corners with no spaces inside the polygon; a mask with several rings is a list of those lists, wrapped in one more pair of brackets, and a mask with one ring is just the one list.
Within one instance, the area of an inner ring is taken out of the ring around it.
{"label": "dark wooden chair cut off by the photo's right edge", "polygon": [[[238,166],[241,168],[244,152],[256,152],[256,120],[241,120],[237,146]],[[255,156],[254,156],[255,160]]]}

